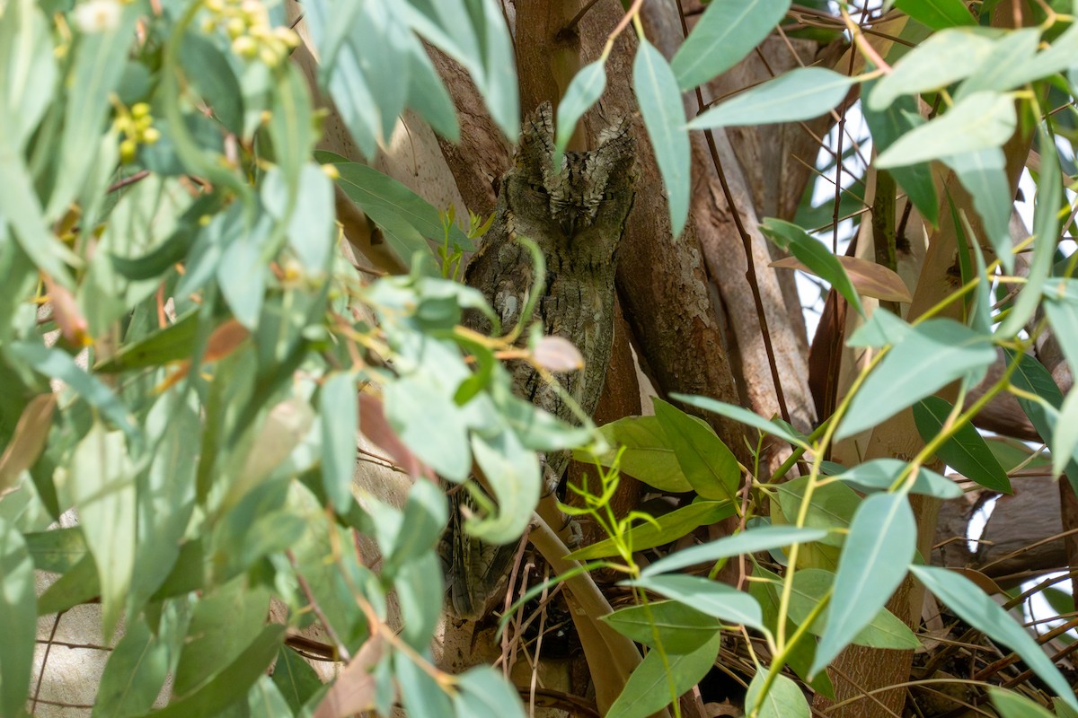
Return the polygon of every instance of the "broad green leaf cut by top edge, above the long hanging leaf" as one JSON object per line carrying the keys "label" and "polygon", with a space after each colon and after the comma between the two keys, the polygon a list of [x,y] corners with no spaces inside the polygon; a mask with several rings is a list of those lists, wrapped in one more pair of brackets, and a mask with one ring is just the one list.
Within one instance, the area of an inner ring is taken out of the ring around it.
{"label": "broad green leaf cut by top edge, above the long hanging leaf", "polygon": [[678,86],[691,89],[737,65],[789,9],[790,0],[711,0],[671,61]]}

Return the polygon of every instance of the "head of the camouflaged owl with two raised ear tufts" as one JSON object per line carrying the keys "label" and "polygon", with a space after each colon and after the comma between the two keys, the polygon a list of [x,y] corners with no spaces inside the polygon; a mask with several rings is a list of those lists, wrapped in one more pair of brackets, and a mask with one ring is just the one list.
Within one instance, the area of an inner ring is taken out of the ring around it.
{"label": "head of the camouflaged owl with two raised ear tufts", "polygon": [[525,123],[514,167],[501,192],[513,230],[548,254],[571,250],[589,264],[612,259],[633,206],[635,142],[627,121],[591,152],[566,152],[554,167],[550,103]]}

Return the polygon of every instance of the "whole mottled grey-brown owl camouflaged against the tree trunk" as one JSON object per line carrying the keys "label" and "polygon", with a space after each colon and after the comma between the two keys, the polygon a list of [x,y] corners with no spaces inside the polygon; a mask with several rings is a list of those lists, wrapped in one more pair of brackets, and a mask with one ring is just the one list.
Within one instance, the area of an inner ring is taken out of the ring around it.
{"label": "whole mottled grey-brown owl camouflaged against the tree trunk", "polygon": [[[528,295],[540,292],[533,319],[542,323],[544,334],[568,339],[583,355],[583,370],[558,378],[590,416],[610,362],[614,263],[633,206],[635,142],[623,121],[603,132],[591,152],[566,152],[558,167],[553,155],[553,112],[543,103],[524,124],[513,167],[501,180],[494,222],[465,271],[465,282],[483,292],[507,328],[516,324]],[[517,237],[531,239],[542,251],[544,286],[533,286],[531,255]],[[492,329],[479,312],[470,313],[465,324],[484,334]],[[510,370],[517,395],[573,421],[557,393],[529,365],[516,362]],[[566,452],[549,455],[549,474],[561,477],[568,460]],[[453,531],[459,532],[459,525]],[[453,544],[454,609],[464,617],[482,616],[515,546],[485,546],[459,533]]]}

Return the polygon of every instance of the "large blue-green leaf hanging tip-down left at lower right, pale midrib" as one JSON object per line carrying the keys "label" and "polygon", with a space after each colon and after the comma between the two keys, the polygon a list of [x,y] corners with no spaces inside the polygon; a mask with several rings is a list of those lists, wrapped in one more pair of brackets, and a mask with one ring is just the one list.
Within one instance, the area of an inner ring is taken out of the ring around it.
{"label": "large blue-green leaf hanging tip-down left at lower right, pale midrib", "polygon": [[827,630],[810,673],[827,666],[884,607],[906,578],[916,539],[917,524],[906,494],[874,494],[865,499],[839,559]]}

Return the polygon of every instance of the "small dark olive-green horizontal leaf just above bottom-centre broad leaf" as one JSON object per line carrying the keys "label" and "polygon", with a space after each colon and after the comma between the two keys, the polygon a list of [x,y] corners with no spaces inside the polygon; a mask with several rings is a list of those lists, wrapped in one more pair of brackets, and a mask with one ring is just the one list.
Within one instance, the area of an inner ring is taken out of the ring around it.
{"label": "small dark olive-green horizontal leaf just above bottom-centre broad leaf", "polygon": [[719,619],[677,601],[627,606],[600,618],[623,636],[651,648],[661,643],[669,653],[690,653],[722,628]]}

